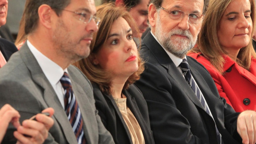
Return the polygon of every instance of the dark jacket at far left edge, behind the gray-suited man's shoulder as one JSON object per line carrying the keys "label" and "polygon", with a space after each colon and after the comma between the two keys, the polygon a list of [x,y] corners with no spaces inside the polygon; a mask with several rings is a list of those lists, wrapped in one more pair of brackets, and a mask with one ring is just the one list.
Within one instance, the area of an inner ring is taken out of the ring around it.
{"label": "dark jacket at far left edge, behind the gray-suited man's shoulder", "polygon": [[13,43],[0,38],[0,51],[3,53],[5,60],[8,61],[11,55],[17,52],[18,49]]}

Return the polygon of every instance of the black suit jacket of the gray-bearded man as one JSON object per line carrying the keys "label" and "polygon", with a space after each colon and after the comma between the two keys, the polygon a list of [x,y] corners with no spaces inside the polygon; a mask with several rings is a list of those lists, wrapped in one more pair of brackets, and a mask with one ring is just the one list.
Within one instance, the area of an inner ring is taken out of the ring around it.
{"label": "black suit jacket of the gray-bearded man", "polygon": [[242,142],[236,131],[239,113],[220,98],[211,75],[201,64],[187,57],[214,121],[150,32],[143,39],[141,55],[146,69],[135,85],[147,101],[155,143],[217,143],[214,121],[225,144],[238,143],[235,139]]}

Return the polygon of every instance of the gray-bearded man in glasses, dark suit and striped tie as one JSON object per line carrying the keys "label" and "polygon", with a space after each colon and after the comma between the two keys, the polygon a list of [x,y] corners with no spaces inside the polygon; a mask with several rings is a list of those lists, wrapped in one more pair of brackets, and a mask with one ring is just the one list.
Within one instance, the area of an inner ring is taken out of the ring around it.
{"label": "gray-bearded man in glasses, dark suit and striped tie", "polygon": [[[235,113],[209,72],[186,57],[204,18],[203,0],[151,0],[143,38],[145,71],[135,83],[149,110],[156,143],[255,143],[256,113]],[[242,139],[241,139],[242,138]]]}

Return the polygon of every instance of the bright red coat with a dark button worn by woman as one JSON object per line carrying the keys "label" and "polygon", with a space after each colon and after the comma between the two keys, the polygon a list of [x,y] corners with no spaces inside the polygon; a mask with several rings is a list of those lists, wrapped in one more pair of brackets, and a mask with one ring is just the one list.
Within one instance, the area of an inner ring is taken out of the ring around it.
{"label": "bright red coat with a dark button worn by woman", "polygon": [[[200,55],[199,55],[200,54]],[[238,66],[238,64],[224,55],[225,63],[221,75],[202,53],[189,53],[200,62],[211,74],[221,97],[227,100],[235,111],[256,110],[256,59],[252,59],[250,71]]]}

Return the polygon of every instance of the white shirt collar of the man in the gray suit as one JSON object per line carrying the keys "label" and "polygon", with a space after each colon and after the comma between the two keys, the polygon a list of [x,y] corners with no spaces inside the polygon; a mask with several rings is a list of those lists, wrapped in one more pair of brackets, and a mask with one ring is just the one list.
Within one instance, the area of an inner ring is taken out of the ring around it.
{"label": "white shirt collar of the man in the gray suit", "polygon": [[48,81],[51,83],[51,85],[57,84],[60,81],[60,78],[63,76],[64,71],[67,72],[67,68],[63,70],[59,65],[57,65],[57,63],[53,62],[43,53],[39,52],[28,40],[27,44]]}

